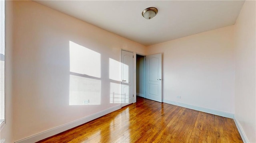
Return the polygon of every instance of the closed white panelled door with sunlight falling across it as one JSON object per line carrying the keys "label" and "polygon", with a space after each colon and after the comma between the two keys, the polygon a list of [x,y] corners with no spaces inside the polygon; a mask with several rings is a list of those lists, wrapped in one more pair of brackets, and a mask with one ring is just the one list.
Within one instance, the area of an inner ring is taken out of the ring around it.
{"label": "closed white panelled door with sunlight falling across it", "polygon": [[133,102],[133,53],[121,51],[121,103],[122,107]]}

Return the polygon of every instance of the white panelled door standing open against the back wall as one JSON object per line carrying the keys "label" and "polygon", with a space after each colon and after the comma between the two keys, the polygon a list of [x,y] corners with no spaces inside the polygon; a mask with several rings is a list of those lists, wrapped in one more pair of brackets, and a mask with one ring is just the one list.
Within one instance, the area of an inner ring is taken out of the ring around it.
{"label": "white panelled door standing open against the back wall", "polygon": [[162,102],[162,54],[146,56],[146,98]]}

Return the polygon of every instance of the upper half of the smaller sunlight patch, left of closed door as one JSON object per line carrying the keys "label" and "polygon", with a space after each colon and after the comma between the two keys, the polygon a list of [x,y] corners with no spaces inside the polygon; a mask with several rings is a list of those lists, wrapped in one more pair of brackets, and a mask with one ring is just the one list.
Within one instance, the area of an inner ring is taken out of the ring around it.
{"label": "upper half of the smaller sunlight patch, left of closed door", "polygon": [[120,81],[120,62],[109,58],[109,79]]}

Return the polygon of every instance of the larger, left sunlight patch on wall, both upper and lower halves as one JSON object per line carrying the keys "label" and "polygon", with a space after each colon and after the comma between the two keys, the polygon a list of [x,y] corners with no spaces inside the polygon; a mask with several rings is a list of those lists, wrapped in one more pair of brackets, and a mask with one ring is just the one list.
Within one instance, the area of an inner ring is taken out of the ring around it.
{"label": "larger, left sunlight patch on wall, both upper and lower halves", "polygon": [[69,105],[100,105],[100,53],[72,41],[69,44]]}

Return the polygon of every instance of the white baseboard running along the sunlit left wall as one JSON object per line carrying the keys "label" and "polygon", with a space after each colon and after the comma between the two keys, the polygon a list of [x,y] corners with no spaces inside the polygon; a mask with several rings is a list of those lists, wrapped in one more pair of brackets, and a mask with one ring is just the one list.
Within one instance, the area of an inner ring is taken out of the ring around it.
{"label": "white baseboard running along the sunlit left wall", "polygon": [[20,141],[15,141],[14,143],[35,143],[37,141],[40,141],[42,139],[46,139],[47,137],[51,137],[53,135],[56,135],[58,133],[61,133],[63,131],[66,131],[68,129],[72,129],[73,127],[77,127],[78,125],[82,125],[84,123],[87,123],[88,121],[92,121],[96,118],[99,118],[101,116],[104,116],[106,114],[109,114],[111,112],[114,112],[116,110],[119,110],[121,109],[121,105],[118,105],[118,106],[114,106],[112,108],[109,108],[109,109],[106,109],[106,110],[103,110],[101,112],[98,112],[96,114],[92,114],[91,116],[87,116],[85,118],[82,118],[82,119],[78,119],[76,121],[72,121],[70,123],[67,123],[65,125],[61,125],[59,127],[56,127],[56,128],[53,128],[53,129],[50,129],[48,131],[44,131],[42,133],[39,133],[37,135],[33,135],[31,137],[28,137],[28,138],[25,138],[25,139],[22,139]]}

